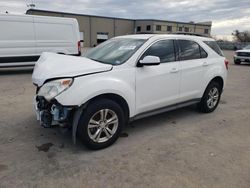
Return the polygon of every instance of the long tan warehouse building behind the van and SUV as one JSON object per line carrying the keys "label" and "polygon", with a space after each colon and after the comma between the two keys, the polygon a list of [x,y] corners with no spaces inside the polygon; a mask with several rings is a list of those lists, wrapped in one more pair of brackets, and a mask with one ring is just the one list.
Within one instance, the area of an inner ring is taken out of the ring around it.
{"label": "long tan warehouse building behind the van and SUV", "polygon": [[185,23],[154,19],[133,20],[38,9],[29,9],[26,14],[76,18],[85,47],[93,47],[115,36],[135,33],[191,33],[210,36],[212,27],[212,22]]}

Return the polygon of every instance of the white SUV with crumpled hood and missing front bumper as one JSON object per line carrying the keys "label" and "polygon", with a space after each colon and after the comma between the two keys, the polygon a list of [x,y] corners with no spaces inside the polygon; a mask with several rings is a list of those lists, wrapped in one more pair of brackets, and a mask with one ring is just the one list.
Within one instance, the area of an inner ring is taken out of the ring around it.
{"label": "white SUV with crumpled hood and missing front bumper", "polygon": [[85,57],[43,53],[32,76],[37,117],[101,149],[129,121],[195,103],[214,111],[227,66],[213,39],[187,35],[116,37]]}

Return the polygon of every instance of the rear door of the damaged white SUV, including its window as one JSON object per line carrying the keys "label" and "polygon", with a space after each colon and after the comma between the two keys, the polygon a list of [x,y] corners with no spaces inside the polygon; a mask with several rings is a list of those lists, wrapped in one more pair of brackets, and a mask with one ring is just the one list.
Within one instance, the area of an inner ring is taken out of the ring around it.
{"label": "rear door of the damaged white SUV, including its window", "polygon": [[208,68],[206,51],[195,41],[178,40],[180,54],[180,101],[198,99]]}

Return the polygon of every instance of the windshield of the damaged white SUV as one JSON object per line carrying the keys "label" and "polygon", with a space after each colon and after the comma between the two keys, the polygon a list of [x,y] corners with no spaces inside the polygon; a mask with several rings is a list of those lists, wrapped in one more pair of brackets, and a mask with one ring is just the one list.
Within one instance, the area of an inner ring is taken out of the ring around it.
{"label": "windshield of the damaged white SUV", "polygon": [[127,61],[145,42],[145,39],[114,38],[89,50],[85,57],[111,65]]}

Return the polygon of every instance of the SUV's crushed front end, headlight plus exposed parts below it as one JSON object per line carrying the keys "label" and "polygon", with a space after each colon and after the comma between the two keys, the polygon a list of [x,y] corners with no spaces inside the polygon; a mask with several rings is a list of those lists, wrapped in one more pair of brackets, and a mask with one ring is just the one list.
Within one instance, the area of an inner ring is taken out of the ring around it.
{"label": "SUV's crushed front end, headlight plus exposed parts below it", "polygon": [[45,128],[55,125],[69,127],[72,124],[73,106],[63,106],[55,98],[68,89],[73,83],[72,78],[56,79],[37,87],[34,107],[37,120]]}

